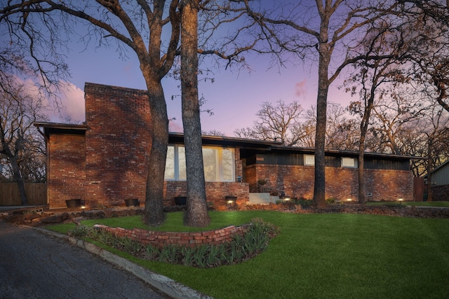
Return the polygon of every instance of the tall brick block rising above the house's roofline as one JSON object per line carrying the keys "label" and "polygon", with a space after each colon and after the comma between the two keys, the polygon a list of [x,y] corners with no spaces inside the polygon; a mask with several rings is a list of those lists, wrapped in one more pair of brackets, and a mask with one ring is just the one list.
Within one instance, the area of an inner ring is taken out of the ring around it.
{"label": "tall brick block rising above the house's roofline", "polygon": [[147,92],[86,83],[86,201],[145,201],[151,118]]}

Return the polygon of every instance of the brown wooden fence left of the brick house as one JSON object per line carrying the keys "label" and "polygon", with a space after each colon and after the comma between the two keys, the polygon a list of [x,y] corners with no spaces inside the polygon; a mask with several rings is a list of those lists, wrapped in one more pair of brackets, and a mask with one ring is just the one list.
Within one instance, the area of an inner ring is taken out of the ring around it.
{"label": "brown wooden fence left of the brick house", "polygon": [[[29,205],[47,204],[46,183],[25,183]],[[0,183],[0,206],[20,206],[17,183]]]}

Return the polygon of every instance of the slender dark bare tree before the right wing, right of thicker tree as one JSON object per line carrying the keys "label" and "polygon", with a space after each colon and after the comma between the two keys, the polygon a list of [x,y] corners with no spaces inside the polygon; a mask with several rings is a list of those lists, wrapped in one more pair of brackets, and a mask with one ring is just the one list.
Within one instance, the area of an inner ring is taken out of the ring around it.
{"label": "slender dark bare tree before the right wing, right of thicker tree", "polygon": [[[375,22],[358,47],[354,48],[355,55],[366,55],[367,59],[358,60],[354,64],[354,69],[358,71],[345,81],[349,85],[347,91],[351,91],[353,95],[358,92],[360,97],[359,101],[349,105],[349,111],[361,118],[358,144],[358,202],[361,204],[365,203],[365,142],[375,100],[387,97],[385,94],[394,92],[396,85],[409,81],[401,70],[403,56],[408,54],[408,43],[403,37],[406,29],[402,24],[396,27],[394,22],[386,20]],[[387,88],[384,85],[388,85]]]}

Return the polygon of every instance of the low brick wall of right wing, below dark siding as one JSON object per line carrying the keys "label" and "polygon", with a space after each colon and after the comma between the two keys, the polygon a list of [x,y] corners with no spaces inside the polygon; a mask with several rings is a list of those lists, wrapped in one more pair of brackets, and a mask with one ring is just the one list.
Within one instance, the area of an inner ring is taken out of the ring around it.
{"label": "low brick wall of right wing, below dark siding", "polygon": [[[314,167],[297,165],[250,165],[246,167],[250,190],[257,190],[257,180],[269,181],[264,187],[283,191],[290,197],[311,199],[314,195]],[[358,169],[326,167],[326,199],[358,200]],[[409,171],[366,169],[367,200],[413,200],[413,177]]]}

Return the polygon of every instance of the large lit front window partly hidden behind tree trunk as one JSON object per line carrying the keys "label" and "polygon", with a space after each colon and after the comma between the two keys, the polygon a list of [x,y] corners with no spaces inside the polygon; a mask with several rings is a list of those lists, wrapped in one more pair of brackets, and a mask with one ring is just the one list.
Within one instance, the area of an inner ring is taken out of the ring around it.
{"label": "large lit front window partly hidden behind tree trunk", "polygon": [[[203,147],[203,164],[206,181],[235,181],[233,148]],[[165,179],[187,179],[184,146],[168,146]]]}

